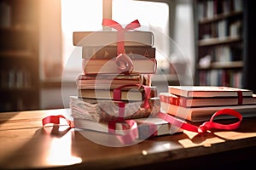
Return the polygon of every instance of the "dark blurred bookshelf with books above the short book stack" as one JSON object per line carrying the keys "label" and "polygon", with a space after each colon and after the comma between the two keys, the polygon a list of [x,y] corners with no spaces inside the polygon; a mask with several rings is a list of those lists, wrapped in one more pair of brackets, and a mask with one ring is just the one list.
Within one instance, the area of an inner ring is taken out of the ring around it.
{"label": "dark blurred bookshelf with books above the short book stack", "polygon": [[241,0],[195,1],[195,84],[245,88],[245,10]]}

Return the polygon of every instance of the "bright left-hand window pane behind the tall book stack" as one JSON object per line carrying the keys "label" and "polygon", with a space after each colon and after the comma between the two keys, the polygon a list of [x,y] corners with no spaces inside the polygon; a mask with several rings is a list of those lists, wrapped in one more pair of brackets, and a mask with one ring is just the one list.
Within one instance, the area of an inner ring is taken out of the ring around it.
{"label": "bright left-hand window pane behind the tall book stack", "polygon": [[61,0],[62,55],[66,70],[81,70],[78,64],[81,48],[73,46],[73,31],[97,31],[102,28],[101,24],[102,0]]}

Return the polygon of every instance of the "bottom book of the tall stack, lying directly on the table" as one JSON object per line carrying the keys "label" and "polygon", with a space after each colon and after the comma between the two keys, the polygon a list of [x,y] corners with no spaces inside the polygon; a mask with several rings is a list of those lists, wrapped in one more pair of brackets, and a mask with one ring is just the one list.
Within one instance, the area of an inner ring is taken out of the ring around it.
{"label": "bottom book of the tall stack, lying directly on the table", "polygon": [[[163,121],[157,117],[137,118],[133,120],[137,122],[137,139],[146,139],[153,136],[183,132],[183,129],[174,127],[169,122]],[[95,122],[88,119],[79,118],[74,118],[73,122],[75,128],[110,133],[108,122]],[[124,135],[125,133],[129,133],[129,128],[129,125],[125,122],[116,122],[114,133]]]}

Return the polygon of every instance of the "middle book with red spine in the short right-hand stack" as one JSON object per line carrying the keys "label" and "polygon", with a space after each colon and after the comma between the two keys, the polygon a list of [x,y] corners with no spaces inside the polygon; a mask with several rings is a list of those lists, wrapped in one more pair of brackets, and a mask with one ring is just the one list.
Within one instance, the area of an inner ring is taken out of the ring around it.
{"label": "middle book with red spine in the short right-hand stack", "polygon": [[238,99],[236,97],[218,97],[218,98],[186,98],[170,93],[160,93],[161,101],[171,105],[179,105],[181,107],[205,107],[219,105],[256,105],[256,94],[252,97],[244,97]]}

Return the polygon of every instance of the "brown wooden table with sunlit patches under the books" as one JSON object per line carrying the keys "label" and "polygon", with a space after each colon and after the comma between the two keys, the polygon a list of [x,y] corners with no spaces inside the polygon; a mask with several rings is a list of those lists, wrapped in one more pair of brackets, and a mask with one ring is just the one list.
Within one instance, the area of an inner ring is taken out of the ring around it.
{"label": "brown wooden table with sunlit patches under the books", "polygon": [[213,169],[256,161],[256,118],[243,119],[235,131],[184,131],[108,147],[85,138],[65,122],[42,127],[42,118],[66,111],[0,113],[0,169]]}

